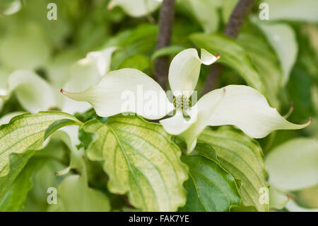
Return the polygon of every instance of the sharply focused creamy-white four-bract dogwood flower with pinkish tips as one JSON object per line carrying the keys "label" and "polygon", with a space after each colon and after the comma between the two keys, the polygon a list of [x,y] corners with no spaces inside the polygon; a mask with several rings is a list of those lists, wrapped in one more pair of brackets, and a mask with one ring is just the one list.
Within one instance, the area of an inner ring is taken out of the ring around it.
{"label": "sharply focused creamy-white four-bract dogwood flower with pinkish tips", "polygon": [[[163,89],[157,82],[137,69],[119,69],[106,74],[99,84],[85,91],[62,90],[62,93],[76,101],[87,101],[102,117],[129,111],[155,120],[175,111],[173,117],[160,120],[160,123],[168,133],[183,137],[189,151],[195,147],[196,137],[208,125],[235,125],[255,138],[265,137],[273,130],[296,130],[309,125],[310,122],[305,125],[288,122],[269,106],[259,91],[249,86],[230,85],[216,89],[191,106],[190,97],[199,79],[201,64],[213,64],[216,60],[218,57],[206,50],[201,50],[201,57],[195,49],[179,52],[169,69],[174,104],[167,96],[163,98]],[[133,98],[129,98],[132,104],[123,108],[127,105],[123,94],[127,93],[133,94]]]}

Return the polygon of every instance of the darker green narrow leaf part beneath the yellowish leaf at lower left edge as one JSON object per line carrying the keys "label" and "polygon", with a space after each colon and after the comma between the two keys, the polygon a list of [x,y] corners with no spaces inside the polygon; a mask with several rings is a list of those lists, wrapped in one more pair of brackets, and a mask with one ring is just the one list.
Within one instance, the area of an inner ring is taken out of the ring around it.
{"label": "darker green narrow leaf part beneath the yellowish leaf at lower left edge", "polygon": [[[33,187],[32,176],[43,164],[45,164],[45,159],[40,159],[40,161],[39,159],[31,159],[28,162],[6,193],[6,196],[1,200],[1,212],[16,212],[23,208],[25,197]],[[0,185],[0,187],[2,186]]]}

